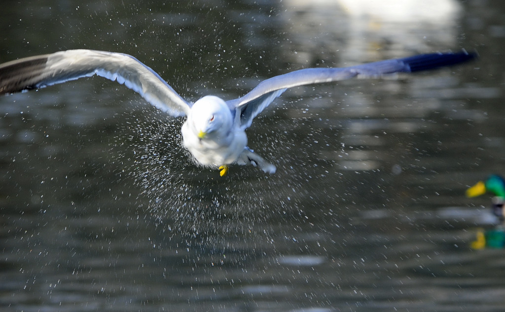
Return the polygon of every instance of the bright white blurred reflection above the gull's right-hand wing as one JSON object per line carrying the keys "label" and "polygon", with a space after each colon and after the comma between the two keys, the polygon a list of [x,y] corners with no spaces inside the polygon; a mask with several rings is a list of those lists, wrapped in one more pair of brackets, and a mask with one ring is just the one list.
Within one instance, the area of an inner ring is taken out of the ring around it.
{"label": "bright white blurred reflection above the gull's right-hand wing", "polygon": [[283,7],[281,17],[290,34],[290,44],[285,47],[296,50],[291,61],[299,64],[336,59],[340,64],[356,64],[404,56],[406,51],[449,49],[461,35],[463,9],[456,0],[423,4],[410,0],[288,0]]}

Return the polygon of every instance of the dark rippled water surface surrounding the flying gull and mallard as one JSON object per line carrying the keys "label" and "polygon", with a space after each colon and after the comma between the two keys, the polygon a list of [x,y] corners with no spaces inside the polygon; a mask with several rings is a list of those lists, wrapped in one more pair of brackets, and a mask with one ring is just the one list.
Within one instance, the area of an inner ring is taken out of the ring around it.
{"label": "dark rippled water surface surrounding the flying gull and mallard", "polygon": [[274,175],[192,164],[182,119],[100,78],[0,98],[2,310],[499,310],[503,250],[469,248],[496,220],[464,190],[504,173],[503,5],[336,3],[6,6],[0,61],[127,52],[190,100],[305,67],[480,59],[289,90],[248,130]]}

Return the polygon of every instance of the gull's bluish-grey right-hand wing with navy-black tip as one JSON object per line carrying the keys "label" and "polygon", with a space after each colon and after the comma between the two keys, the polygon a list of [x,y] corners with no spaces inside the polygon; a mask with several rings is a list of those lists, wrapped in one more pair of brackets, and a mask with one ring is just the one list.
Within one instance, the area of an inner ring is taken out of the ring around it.
{"label": "gull's bluish-grey right-hand wing with navy-black tip", "polygon": [[287,88],[345,80],[353,77],[379,78],[399,72],[426,71],[463,63],[476,56],[475,53],[468,53],[463,50],[458,53],[420,54],[344,68],[308,68],[266,79],[249,93],[226,103],[230,109],[240,110],[241,127],[245,129],[251,125],[254,117]]}

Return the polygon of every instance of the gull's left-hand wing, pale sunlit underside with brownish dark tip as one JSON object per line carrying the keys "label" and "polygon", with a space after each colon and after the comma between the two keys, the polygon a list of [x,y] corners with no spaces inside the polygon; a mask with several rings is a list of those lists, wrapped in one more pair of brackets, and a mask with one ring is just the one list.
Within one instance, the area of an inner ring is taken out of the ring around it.
{"label": "gull's left-hand wing, pale sunlit underside with brownish dark tip", "polygon": [[105,51],[67,50],[0,64],[0,94],[43,88],[94,74],[124,84],[173,116],[189,112],[190,103],[138,59]]}

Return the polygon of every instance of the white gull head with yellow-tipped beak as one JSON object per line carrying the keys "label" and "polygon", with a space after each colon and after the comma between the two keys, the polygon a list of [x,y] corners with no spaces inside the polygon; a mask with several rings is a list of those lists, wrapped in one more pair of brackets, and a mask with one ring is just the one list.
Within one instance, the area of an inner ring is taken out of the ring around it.
{"label": "white gull head with yellow-tipped beak", "polygon": [[233,116],[226,102],[213,95],[204,96],[191,107],[191,127],[198,139],[222,137],[233,124]]}

